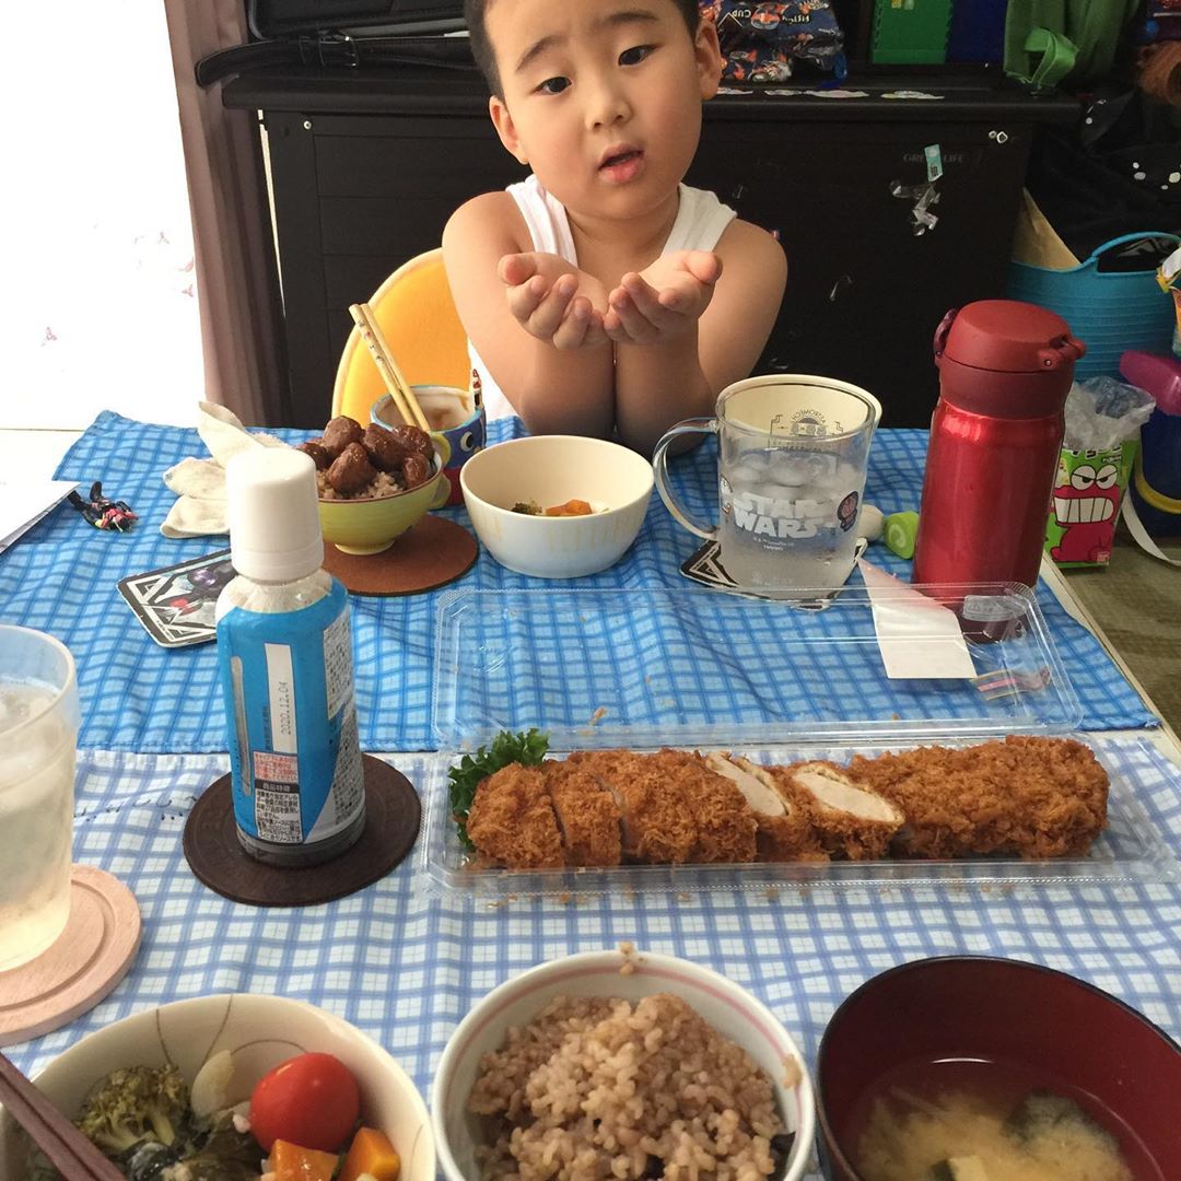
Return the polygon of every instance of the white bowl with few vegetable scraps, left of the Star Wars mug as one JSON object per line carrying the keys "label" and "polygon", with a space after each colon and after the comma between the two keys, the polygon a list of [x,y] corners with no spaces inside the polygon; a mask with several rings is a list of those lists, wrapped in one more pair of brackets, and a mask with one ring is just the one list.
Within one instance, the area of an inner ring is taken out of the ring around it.
{"label": "white bowl with few vegetable scraps, left of the Star Wars mug", "polygon": [[[476,536],[501,563],[540,579],[576,579],[624,556],[644,524],[652,464],[606,439],[536,435],[477,451],[459,470]],[[529,516],[569,500],[606,511],[580,517]]]}

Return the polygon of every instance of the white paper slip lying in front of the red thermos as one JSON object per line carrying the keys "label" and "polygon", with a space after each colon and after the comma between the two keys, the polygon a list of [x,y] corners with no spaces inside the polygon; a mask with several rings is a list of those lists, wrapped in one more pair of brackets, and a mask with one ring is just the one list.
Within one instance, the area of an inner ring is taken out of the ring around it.
{"label": "white paper slip lying in front of the red thermos", "polygon": [[863,557],[857,560],[857,568],[869,592],[887,677],[971,680],[976,676],[953,611]]}

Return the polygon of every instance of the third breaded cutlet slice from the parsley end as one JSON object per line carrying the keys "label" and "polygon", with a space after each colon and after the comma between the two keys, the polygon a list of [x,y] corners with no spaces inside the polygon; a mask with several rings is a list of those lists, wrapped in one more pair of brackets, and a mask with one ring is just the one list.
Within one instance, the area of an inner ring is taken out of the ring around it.
{"label": "third breaded cutlet slice from the parsley end", "polygon": [[567,761],[593,775],[619,807],[622,852],[631,861],[680,864],[691,861],[697,824],[678,781],[668,782],[651,755],[628,750],[575,751]]}

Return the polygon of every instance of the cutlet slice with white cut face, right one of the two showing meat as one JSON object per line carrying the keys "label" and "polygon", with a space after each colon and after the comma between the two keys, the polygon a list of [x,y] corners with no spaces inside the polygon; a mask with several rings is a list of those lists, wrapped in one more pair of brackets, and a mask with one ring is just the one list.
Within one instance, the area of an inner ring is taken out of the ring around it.
{"label": "cutlet slice with white cut face, right one of the two showing meat", "polygon": [[823,761],[769,768],[784,800],[802,808],[829,854],[850,861],[885,856],[906,817],[860,776]]}

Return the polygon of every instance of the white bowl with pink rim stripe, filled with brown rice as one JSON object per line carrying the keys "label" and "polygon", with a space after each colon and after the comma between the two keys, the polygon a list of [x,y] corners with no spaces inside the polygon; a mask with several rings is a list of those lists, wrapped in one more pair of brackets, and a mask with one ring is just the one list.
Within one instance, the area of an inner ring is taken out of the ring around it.
{"label": "white bowl with pink rim stripe, filled with brown rice", "polygon": [[448,1181],[797,1181],[811,1081],[765,1005],[670,955],[585,952],[494,988],[431,1092]]}

